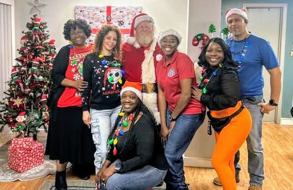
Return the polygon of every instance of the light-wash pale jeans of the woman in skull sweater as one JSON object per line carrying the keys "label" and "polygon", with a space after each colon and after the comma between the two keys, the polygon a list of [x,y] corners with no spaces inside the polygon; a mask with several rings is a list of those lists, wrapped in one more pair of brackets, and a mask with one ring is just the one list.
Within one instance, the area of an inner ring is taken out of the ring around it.
{"label": "light-wash pale jeans of the woman in skull sweater", "polygon": [[120,110],[121,105],[107,110],[90,109],[91,134],[93,143],[96,146],[94,153],[96,173],[99,172],[106,160],[107,140]]}

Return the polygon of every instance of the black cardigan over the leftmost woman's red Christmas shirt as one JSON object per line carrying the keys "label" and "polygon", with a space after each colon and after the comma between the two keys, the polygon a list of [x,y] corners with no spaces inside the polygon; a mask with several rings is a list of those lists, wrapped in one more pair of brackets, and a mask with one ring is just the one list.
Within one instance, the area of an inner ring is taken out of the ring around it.
{"label": "black cardigan over the leftmost woman's red Christmas shirt", "polygon": [[47,105],[50,108],[50,119],[55,120],[55,109],[57,107],[57,102],[65,90],[65,87],[61,85],[62,80],[65,78],[65,72],[68,67],[69,62],[69,52],[70,48],[67,46],[62,47],[55,60],[53,62],[53,69],[51,72],[51,80],[53,85],[51,91],[49,92],[49,97]]}

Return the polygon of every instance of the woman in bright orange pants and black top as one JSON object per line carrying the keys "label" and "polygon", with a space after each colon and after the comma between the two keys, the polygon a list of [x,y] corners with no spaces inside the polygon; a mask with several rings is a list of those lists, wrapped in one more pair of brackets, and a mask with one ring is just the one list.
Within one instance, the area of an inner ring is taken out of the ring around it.
{"label": "woman in bright orange pants and black top", "polygon": [[239,100],[238,65],[232,60],[229,47],[220,38],[206,43],[198,64],[203,67],[202,82],[193,89],[193,98],[210,110],[207,116],[216,136],[212,164],[223,189],[236,190],[234,155],[251,129],[250,113]]}

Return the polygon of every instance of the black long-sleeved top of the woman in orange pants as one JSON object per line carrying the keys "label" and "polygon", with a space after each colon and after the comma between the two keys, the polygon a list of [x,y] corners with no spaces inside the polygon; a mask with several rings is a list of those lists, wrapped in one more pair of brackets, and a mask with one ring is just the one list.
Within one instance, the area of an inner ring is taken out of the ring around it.
{"label": "black long-sleeved top of the woman in orange pants", "polygon": [[[210,67],[205,78],[209,78],[217,68]],[[201,86],[201,85],[200,85]],[[206,94],[201,97],[201,102],[209,110],[223,110],[234,107],[240,99],[240,86],[237,69],[232,67],[222,67],[217,71],[206,86]]]}

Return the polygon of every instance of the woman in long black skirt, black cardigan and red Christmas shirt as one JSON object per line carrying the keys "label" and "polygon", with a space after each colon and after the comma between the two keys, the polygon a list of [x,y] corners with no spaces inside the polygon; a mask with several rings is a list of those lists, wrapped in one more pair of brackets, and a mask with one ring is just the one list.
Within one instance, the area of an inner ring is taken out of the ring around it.
{"label": "woman in long black skirt, black cardigan and red Christmas shirt", "polygon": [[82,98],[88,83],[83,79],[83,61],[92,46],[86,44],[90,36],[86,21],[69,20],[64,24],[64,38],[71,45],[62,47],[53,64],[52,90],[49,94],[50,124],[46,144],[49,159],[56,160],[55,186],[66,190],[66,165],[68,162],[80,168],[82,179],[89,178],[89,167],[95,151],[90,129],[82,120]]}

